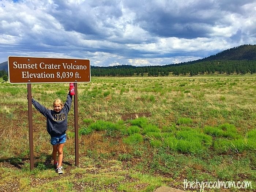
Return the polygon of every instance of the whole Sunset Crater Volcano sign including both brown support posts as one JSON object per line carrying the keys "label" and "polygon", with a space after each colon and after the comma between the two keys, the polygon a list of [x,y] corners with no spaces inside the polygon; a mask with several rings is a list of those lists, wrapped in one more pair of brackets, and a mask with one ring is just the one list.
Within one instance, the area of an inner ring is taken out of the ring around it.
{"label": "whole Sunset Crater Volcano sign including both brown support posts", "polygon": [[27,83],[30,170],[34,168],[31,83],[74,82],[75,165],[78,166],[79,153],[77,83],[90,82],[90,60],[9,56],[8,73],[10,83]]}

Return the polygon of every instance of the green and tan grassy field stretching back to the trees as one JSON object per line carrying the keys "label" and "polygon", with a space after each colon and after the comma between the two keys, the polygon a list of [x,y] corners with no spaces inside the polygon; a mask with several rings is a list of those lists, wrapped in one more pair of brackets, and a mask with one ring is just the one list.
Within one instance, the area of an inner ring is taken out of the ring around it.
{"label": "green and tan grassy field stretching back to the trees", "polygon": [[[48,108],[67,92],[68,83],[32,84],[33,97]],[[62,176],[54,172],[45,118],[34,107],[30,171],[27,85],[1,83],[0,95],[0,191],[200,191],[184,189],[184,180],[251,182],[204,191],[256,190],[256,75],[78,83],[79,166],[72,104]]]}

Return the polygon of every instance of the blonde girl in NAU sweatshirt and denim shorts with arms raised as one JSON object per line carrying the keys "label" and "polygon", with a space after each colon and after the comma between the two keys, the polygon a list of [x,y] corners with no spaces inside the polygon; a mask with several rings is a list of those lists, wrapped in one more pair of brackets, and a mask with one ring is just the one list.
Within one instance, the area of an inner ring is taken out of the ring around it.
{"label": "blonde girl in NAU sweatshirt and denim shorts with arms raised", "polygon": [[[45,108],[32,97],[32,104],[35,109],[46,117],[46,129],[51,136],[52,158],[54,161],[55,171],[62,174],[63,147],[66,142],[67,118],[72,103],[72,95],[68,93],[65,104],[60,99],[53,102],[53,110]],[[57,161],[58,153],[58,161]]]}

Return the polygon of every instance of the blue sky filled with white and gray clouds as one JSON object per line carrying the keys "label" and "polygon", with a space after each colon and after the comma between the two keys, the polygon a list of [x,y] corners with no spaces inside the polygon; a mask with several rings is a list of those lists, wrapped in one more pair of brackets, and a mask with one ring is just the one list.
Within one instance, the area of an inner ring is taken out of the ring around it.
{"label": "blue sky filled with white and gray clouds", "polygon": [[0,63],[166,65],[244,44],[256,44],[256,0],[0,0]]}

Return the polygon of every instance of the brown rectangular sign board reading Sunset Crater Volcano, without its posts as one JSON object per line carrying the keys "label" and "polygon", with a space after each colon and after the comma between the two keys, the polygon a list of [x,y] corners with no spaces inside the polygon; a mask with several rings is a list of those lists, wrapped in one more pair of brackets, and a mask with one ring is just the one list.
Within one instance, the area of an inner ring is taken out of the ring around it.
{"label": "brown rectangular sign board reading Sunset Crater Volcano, without its posts", "polygon": [[8,57],[10,83],[90,82],[90,60]]}

